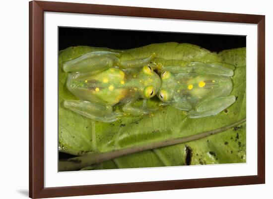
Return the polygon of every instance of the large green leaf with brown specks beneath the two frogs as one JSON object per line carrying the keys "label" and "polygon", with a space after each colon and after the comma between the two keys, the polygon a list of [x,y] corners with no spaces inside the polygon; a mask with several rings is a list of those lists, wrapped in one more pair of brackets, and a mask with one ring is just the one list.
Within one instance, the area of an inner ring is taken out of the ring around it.
{"label": "large green leaf with brown specks beneath the two frogs", "polygon": [[[192,137],[242,121],[246,118],[245,48],[224,50],[218,54],[190,44],[152,44],[132,50],[116,50],[121,59],[145,58],[155,52],[163,64],[191,61],[225,62],[235,65],[232,95],[236,102],[216,116],[189,119],[185,111],[167,106],[150,115],[123,117],[113,123],[92,121],[63,106],[64,99],[74,99],[66,88],[67,74],[62,63],[86,52],[100,50],[72,47],[59,55],[59,149],[71,154],[109,153],[123,149],[141,148],[154,143]],[[104,49],[109,50],[109,49]],[[156,105],[156,99],[150,104]],[[233,163],[246,161],[245,123],[219,134],[169,147],[145,150],[114,158],[92,169],[136,168],[187,164]],[[91,152],[90,152],[91,151]],[[89,156],[91,156],[89,154]],[[86,156],[88,157],[88,155]]]}

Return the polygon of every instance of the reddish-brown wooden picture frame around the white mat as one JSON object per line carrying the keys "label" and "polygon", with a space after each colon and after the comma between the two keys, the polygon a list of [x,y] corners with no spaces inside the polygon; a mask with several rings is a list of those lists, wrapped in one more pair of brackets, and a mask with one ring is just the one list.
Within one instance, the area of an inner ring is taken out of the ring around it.
{"label": "reddish-brown wooden picture frame around the white mat", "polygon": [[[44,188],[44,12],[258,24],[258,175]],[[265,183],[265,16],[83,3],[29,2],[29,197],[49,198]]]}

